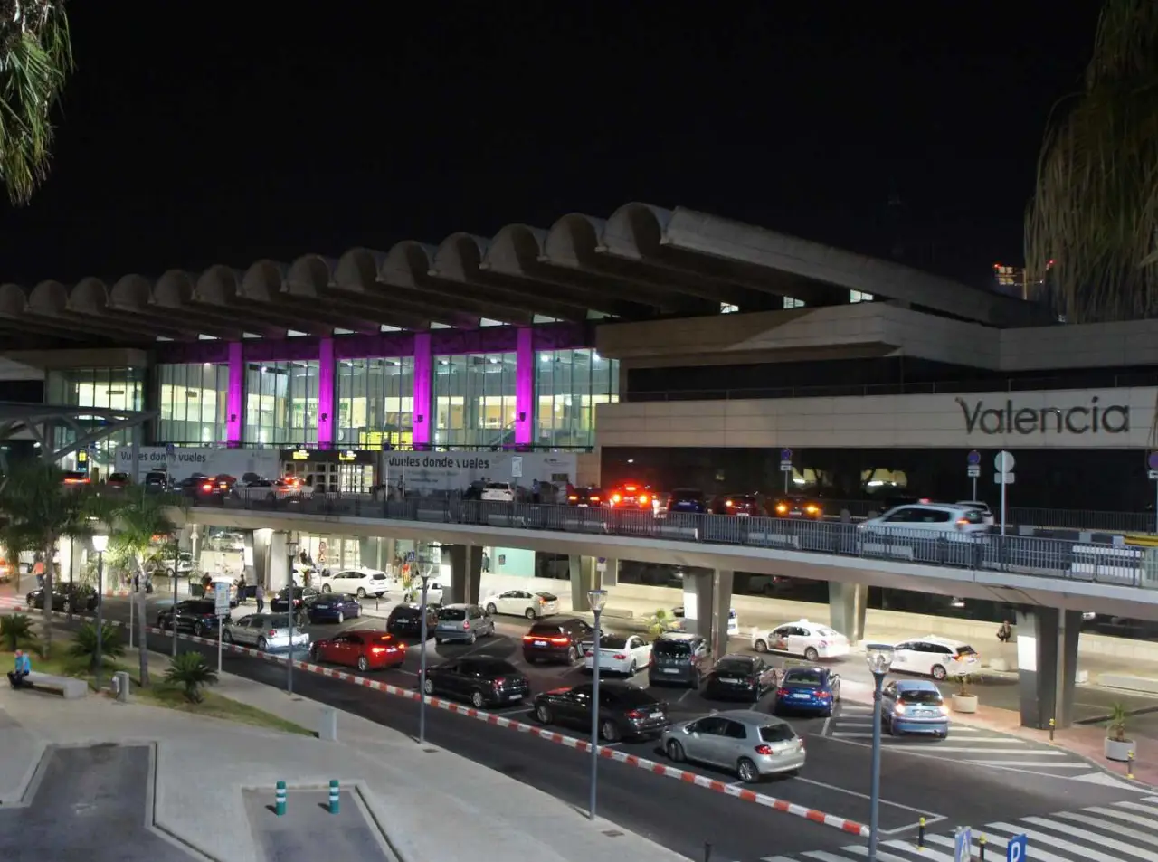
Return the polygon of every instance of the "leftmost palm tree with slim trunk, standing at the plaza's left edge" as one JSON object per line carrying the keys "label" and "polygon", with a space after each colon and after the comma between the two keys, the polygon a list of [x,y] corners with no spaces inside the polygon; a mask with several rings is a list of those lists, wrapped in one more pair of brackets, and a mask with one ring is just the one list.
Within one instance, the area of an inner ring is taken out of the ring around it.
{"label": "leftmost palm tree with slim trunk, standing at the plaza's left edge", "polygon": [[[2,2],[2,0],[0,0]],[[52,580],[57,544],[65,536],[91,532],[88,515],[91,495],[85,486],[66,486],[54,464],[28,461],[19,464],[0,485],[0,544],[12,558],[32,551],[44,558],[44,656],[52,650]]]}

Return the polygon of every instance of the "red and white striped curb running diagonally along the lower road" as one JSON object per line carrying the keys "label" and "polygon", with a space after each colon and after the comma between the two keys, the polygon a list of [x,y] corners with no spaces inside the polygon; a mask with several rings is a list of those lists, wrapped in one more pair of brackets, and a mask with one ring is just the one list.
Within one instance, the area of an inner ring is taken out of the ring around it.
{"label": "red and white striped curb running diagonally along the lower road", "polygon": [[[57,617],[63,616],[60,613],[54,614]],[[125,622],[110,620],[112,625],[126,626]],[[154,628],[149,626],[146,631],[151,634],[161,634],[171,636],[171,632],[163,628]],[[195,643],[204,643],[206,646],[217,646],[217,640],[211,640],[208,638],[198,638],[191,634],[178,634],[178,639],[183,641],[192,641]],[[237,653],[241,655],[252,656],[255,658],[262,658],[267,662],[274,662],[277,664],[284,664],[286,658],[281,656],[271,655],[270,653],[262,653],[261,650],[252,649],[250,647],[239,647],[235,643],[222,643],[221,648],[230,653]],[[294,660],[293,666],[300,670],[308,671],[309,673],[316,673],[321,677],[329,677],[330,679],[340,679],[344,683],[352,683],[359,685],[364,688],[372,688],[376,692],[384,692],[386,694],[394,694],[400,698],[405,698],[406,700],[418,701],[419,693],[411,688],[403,688],[397,685],[391,685],[390,683],[380,683],[376,679],[369,679],[368,677],[362,677],[357,673],[350,673],[343,670],[335,670],[334,668],[324,668],[321,664],[314,664],[313,662],[300,662]],[[493,724],[500,728],[508,728],[519,734],[528,734],[530,736],[537,736],[540,739],[545,739],[550,743],[556,743],[557,745],[563,745],[569,749],[574,749],[576,751],[591,751],[591,743],[586,739],[578,739],[573,736],[567,736],[565,734],[559,734],[554,730],[548,730],[545,728],[538,727],[537,724],[528,724],[523,721],[515,721],[513,719],[507,719],[501,715],[496,715],[493,713],[488,713],[484,709],[476,709],[475,707],[464,706],[453,700],[444,700],[442,698],[427,697],[426,702],[434,707],[435,709],[446,709],[450,713],[457,713],[459,715],[466,715],[468,719],[477,719],[478,721],[486,722],[488,724]],[[626,766],[633,766],[639,769],[645,769],[654,775],[662,775],[664,778],[675,779],[682,781],[686,784],[695,784],[696,787],[703,787],[708,790],[714,790],[716,793],[724,794],[725,796],[732,796],[743,802],[753,802],[757,805],[763,805],[764,808],[772,809],[774,811],[783,811],[784,813],[793,815],[796,817],[802,817],[806,820],[812,820],[813,823],[819,823],[824,826],[831,826],[833,828],[841,830],[842,832],[848,832],[860,838],[868,837],[868,827],[857,823],[856,820],[849,820],[844,817],[836,817],[834,815],[826,813],[824,811],[818,811],[816,809],[807,808],[805,805],[798,805],[793,802],[787,802],[785,800],[779,800],[775,796],[768,796],[767,794],[760,794],[754,790],[748,790],[742,787],[736,787],[734,784],[718,781],[716,779],[710,779],[706,775],[701,775],[699,773],[689,772],[688,769],[679,769],[674,766],[667,766],[665,764],[657,762],[654,760],[648,760],[647,758],[637,757],[636,754],[628,754],[623,751],[617,751],[616,749],[609,749],[600,745],[596,751],[599,757],[611,760],[617,764],[624,764]]]}

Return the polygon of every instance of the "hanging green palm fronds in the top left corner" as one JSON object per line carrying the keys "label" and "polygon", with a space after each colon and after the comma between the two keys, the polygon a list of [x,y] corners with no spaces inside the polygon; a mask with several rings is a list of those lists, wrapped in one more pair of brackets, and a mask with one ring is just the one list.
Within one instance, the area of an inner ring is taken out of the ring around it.
{"label": "hanging green palm fronds in the top left corner", "polygon": [[72,68],[64,0],[0,0],[0,180],[13,204],[47,176],[51,113]]}

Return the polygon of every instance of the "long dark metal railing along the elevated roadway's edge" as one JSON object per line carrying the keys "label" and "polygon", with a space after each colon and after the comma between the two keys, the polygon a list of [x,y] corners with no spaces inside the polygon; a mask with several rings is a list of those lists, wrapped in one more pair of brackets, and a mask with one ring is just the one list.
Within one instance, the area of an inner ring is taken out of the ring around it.
{"label": "long dark metal railing along the elevated roadway's edge", "polygon": [[862,524],[831,521],[689,513],[654,515],[651,511],[448,498],[382,500],[374,495],[325,494],[258,500],[227,496],[220,499],[217,508],[740,545],[1158,588],[1158,550],[989,532],[866,529]]}

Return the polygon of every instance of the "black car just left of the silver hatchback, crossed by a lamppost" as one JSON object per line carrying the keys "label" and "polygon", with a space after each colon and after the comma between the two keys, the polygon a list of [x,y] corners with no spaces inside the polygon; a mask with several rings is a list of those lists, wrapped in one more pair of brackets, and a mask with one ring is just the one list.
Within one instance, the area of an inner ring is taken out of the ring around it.
{"label": "black car just left of the silver hatchback, crossed by a lamppost", "polygon": [[[535,719],[541,724],[591,727],[591,684],[556,688],[535,698]],[[599,686],[599,735],[607,742],[625,736],[659,736],[672,723],[667,703],[630,683]]]}

